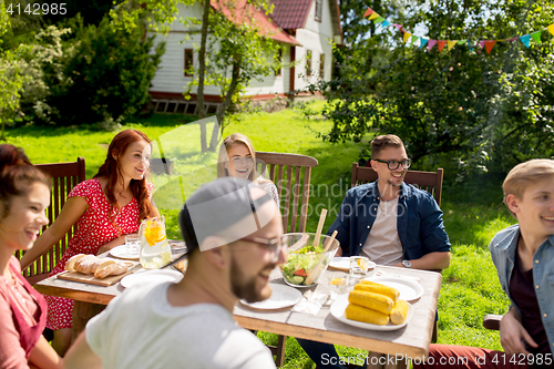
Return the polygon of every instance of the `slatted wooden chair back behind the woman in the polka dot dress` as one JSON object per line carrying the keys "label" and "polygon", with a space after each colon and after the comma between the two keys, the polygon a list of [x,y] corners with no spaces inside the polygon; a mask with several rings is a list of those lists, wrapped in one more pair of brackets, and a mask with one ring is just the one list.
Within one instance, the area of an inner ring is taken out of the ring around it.
{"label": "slatted wooden chair back behind the woman in the polka dot dress", "polygon": [[[42,232],[44,232],[60,214],[71,189],[78,183],[85,180],[84,157],[79,157],[76,162],[72,163],[37,164],[37,167],[52,177],[52,199],[47,209],[49,224],[42,228]],[[68,243],[75,230],[76,225],[73,225],[58,244],[23,270],[23,276],[31,285],[48,277],[48,274],[52,271],[55,264],[62,258],[63,253],[68,248]],[[16,253],[16,256],[21,258],[22,252]]]}

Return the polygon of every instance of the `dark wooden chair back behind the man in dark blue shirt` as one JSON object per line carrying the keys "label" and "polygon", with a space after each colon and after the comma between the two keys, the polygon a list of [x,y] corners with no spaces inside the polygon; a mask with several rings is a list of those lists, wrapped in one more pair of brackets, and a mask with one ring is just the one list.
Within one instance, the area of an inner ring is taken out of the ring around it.
{"label": "dark wooden chair back behind the man in dark blue shirt", "polygon": [[[441,167],[437,172],[408,171],[404,182],[431,193],[437,204],[441,206],[442,176]],[[352,164],[352,187],[375,181],[377,181],[377,173],[372,167],[359,166],[356,162]]]}

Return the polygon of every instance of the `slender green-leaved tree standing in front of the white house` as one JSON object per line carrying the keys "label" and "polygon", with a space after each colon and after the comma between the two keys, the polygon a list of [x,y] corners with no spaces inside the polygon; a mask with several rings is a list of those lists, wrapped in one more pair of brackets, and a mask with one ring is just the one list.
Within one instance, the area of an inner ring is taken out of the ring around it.
{"label": "slender green-leaved tree standing in front of the white house", "polygon": [[[215,151],[219,133],[223,134],[225,121],[233,105],[240,101],[240,94],[252,80],[261,81],[274,73],[278,45],[270,39],[267,30],[260,29],[256,12],[273,10],[268,0],[217,0],[214,7],[203,1],[204,16],[201,32],[202,44],[197,75],[188,85],[197,86],[197,103],[204,112],[204,85],[217,85],[223,99],[216,116],[220,132],[213,132],[208,150]],[[206,9],[208,14],[206,16]],[[222,12],[228,10],[230,20]],[[207,19],[207,22],[206,22]],[[194,23],[194,20],[187,20]],[[206,42],[205,51],[203,43]],[[209,54],[209,58],[205,55]],[[217,125],[214,126],[217,129]],[[203,133],[203,141],[205,135]],[[203,143],[203,146],[207,144]],[[205,147],[204,146],[204,147]]]}

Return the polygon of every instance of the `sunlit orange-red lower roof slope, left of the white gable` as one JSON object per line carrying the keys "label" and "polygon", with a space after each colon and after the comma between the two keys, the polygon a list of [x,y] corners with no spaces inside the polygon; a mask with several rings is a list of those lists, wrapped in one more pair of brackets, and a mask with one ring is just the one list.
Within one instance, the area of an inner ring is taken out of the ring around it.
{"label": "sunlit orange-red lower roof slope, left of the white gable", "polygon": [[[211,0],[209,3],[212,8],[220,11],[229,21],[236,24],[243,24],[244,22],[250,22],[254,19],[258,32],[261,35],[269,35],[273,40],[281,43],[287,43],[291,45],[299,47],[300,43],[296,39],[280,29],[276,22],[271,21],[264,11],[256,9],[254,6],[248,3],[246,0],[237,1],[236,7],[229,9],[225,6],[225,1]],[[252,14],[252,16],[250,16]]]}

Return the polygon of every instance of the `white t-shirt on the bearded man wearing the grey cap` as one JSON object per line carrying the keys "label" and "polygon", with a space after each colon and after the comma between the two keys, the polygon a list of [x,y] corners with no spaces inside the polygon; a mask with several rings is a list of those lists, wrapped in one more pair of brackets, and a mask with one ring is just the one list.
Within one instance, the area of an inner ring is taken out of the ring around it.
{"label": "white t-shirt on the bearded man wearing the grey cap", "polygon": [[86,342],[102,368],[275,368],[269,349],[223,306],[174,307],[170,285],[129,288],[89,321]]}

